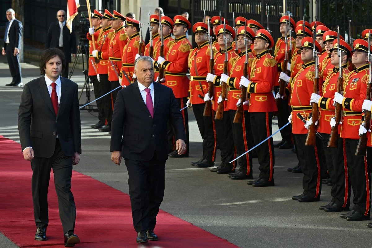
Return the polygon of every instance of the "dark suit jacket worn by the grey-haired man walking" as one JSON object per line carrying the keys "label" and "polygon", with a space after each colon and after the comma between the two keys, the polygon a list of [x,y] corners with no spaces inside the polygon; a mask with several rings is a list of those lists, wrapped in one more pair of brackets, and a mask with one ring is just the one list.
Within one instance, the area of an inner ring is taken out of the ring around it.
{"label": "dark suit jacket worn by the grey-haired man walking", "polygon": [[154,119],[142,99],[137,81],[118,92],[111,122],[111,151],[122,157],[149,161],[156,149],[158,160],[168,159],[167,123],[176,139],[186,141],[185,125],[171,88],[154,84]]}

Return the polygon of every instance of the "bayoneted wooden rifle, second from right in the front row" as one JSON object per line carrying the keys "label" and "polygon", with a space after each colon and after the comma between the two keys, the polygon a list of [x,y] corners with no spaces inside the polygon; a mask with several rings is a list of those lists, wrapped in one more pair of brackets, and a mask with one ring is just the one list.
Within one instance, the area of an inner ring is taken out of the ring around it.
{"label": "bayoneted wooden rifle, second from right in the front row", "polygon": [[[340,28],[337,26],[337,57],[339,57],[339,77],[337,78],[337,92],[343,95],[343,68],[342,68],[342,53],[340,49]],[[336,102],[335,102],[336,103]],[[336,110],[334,112],[334,119],[336,120],[336,126],[331,128],[331,135],[328,140],[328,147],[337,148],[338,139],[339,139],[339,124],[342,116],[342,105],[336,103]]]}

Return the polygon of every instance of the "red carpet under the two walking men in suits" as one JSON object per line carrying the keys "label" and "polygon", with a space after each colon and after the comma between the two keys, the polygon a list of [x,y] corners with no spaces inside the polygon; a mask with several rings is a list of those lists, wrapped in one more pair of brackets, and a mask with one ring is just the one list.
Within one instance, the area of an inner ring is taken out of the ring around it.
{"label": "red carpet under the two walking men in suits", "polygon": [[[32,170],[20,150],[20,144],[0,135],[0,231],[20,247],[63,247],[52,175],[48,197],[48,240],[33,239],[36,227],[31,196]],[[75,232],[81,241],[75,247],[139,247],[135,243],[137,233],[127,194],[76,171],[73,171],[72,191],[77,208]],[[155,233],[160,236],[160,241],[149,241],[144,247],[237,247],[167,212],[160,210],[157,219]]]}

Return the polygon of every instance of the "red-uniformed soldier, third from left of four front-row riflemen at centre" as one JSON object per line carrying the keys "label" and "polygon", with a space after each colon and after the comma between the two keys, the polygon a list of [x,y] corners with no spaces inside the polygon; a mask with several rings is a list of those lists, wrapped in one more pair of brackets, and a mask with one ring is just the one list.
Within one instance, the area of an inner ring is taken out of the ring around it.
{"label": "red-uniformed soldier, third from left of four front-row riflemen at centre", "polygon": [[[246,34],[244,34],[244,32],[246,32]],[[246,62],[246,46],[244,43],[244,37],[246,36],[248,42],[248,61],[253,61],[254,55],[252,54],[250,43],[256,35],[251,28],[247,27],[245,29],[245,26],[241,26],[238,29],[237,34],[237,45],[238,49],[241,51],[238,54],[239,58],[235,60],[234,65],[232,65],[229,76],[225,74],[221,75],[221,81],[224,81],[230,87],[227,109],[229,109],[228,112],[232,126],[232,135],[237,154],[243,154],[244,152],[248,151],[248,149],[253,147],[252,129],[249,118],[250,113],[248,112],[249,107],[241,102],[241,98],[246,98],[245,96],[241,96],[242,91],[240,87],[240,79],[242,76],[244,76],[244,63]],[[247,77],[249,76],[247,75]],[[240,104],[243,104],[242,122],[234,123],[235,114],[237,113],[237,105]],[[238,163],[240,165],[239,170],[234,174],[230,174],[230,178],[232,180],[252,179],[252,152],[248,152],[246,155],[239,158]]]}

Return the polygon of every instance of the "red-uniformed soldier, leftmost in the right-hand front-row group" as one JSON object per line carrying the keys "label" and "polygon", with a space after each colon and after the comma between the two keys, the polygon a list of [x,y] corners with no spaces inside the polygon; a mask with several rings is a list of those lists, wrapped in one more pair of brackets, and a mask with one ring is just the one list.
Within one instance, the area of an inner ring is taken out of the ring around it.
{"label": "red-uniformed soldier, leftmost in the right-hand front-row group", "polygon": [[[315,61],[313,57],[313,41],[311,37],[305,37],[301,41],[301,59],[303,65],[297,75],[291,79],[292,88],[292,113],[289,115],[288,121],[292,122],[292,133],[294,141],[296,142],[296,149],[298,152],[299,164],[304,178],[302,179],[302,187],[304,193],[293,196],[293,200],[299,202],[314,202],[320,200],[321,193],[321,160],[318,156],[318,149],[316,146],[305,145],[308,130],[304,127],[304,123],[297,116],[300,113],[302,117],[307,119],[311,113],[312,106],[310,106],[310,97],[313,93],[313,84],[315,77]],[[321,52],[320,44],[315,41],[315,50]],[[323,78],[319,73],[319,85]],[[317,144],[320,144],[320,139]]]}

